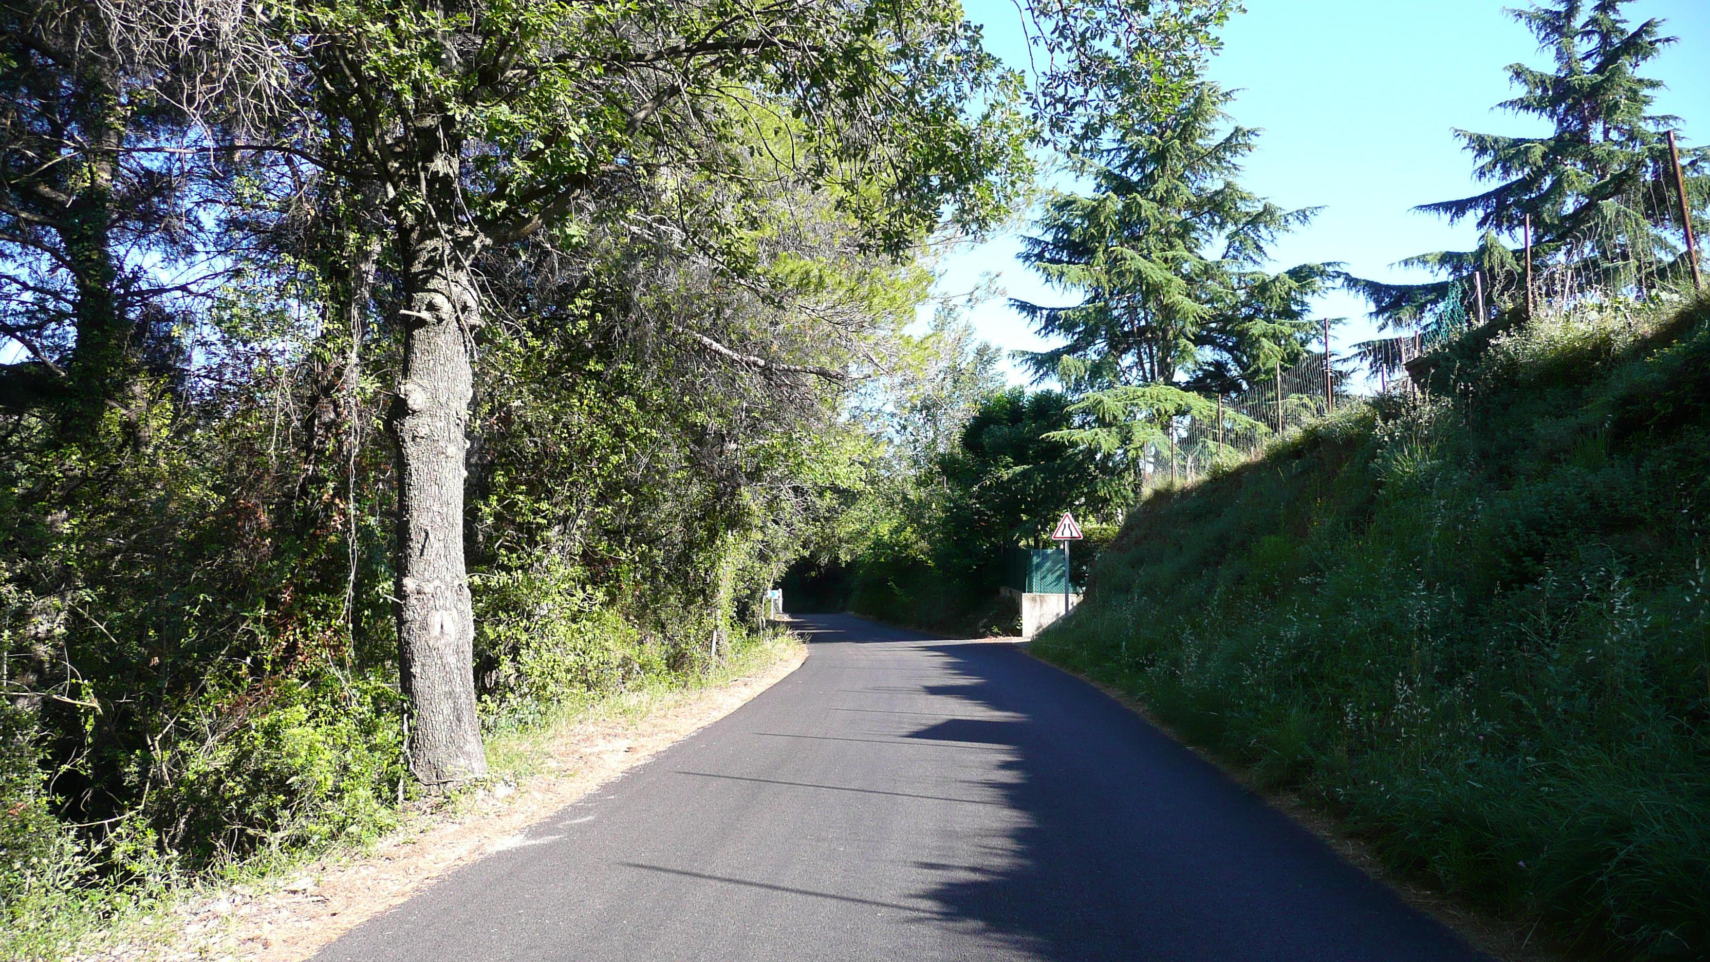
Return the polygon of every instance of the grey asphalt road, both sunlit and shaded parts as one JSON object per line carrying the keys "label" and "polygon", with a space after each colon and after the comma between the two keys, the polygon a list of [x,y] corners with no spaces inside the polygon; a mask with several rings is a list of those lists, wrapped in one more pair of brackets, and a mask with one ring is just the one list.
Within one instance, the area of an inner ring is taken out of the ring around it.
{"label": "grey asphalt road, both sunlit and shaded parts", "polygon": [[318,959],[1483,959],[1012,644],[805,621],[792,676]]}

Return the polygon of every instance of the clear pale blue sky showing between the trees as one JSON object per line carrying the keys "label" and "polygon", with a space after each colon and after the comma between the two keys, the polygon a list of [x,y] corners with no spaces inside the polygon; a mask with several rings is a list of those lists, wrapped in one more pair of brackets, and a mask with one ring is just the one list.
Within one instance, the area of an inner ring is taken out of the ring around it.
{"label": "clear pale blue sky showing between the trees", "polygon": [[[1026,51],[1011,0],[963,0],[985,26],[990,50],[1014,65]],[[1508,3],[1513,5],[1513,3]],[[1512,89],[1503,67],[1548,65],[1534,38],[1491,0],[1247,0],[1224,29],[1211,77],[1240,89],[1229,111],[1264,134],[1245,185],[1286,207],[1324,207],[1306,229],[1276,248],[1277,269],[1341,260],[1363,277],[1423,279],[1390,264],[1428,250],[1467,248],[1474,231],[1411,209],[1477,190],[1471,157],[1452,128],[1489,134],[1542,132],[1537,122],[1493,110]],[[1710,2],[1636,0],[1636,22],[1662,17],[1679,43],[1650,62],[1647,75],[1669,89],[1659,113],[1681,116],[1688,144],[1710,140]],[[971,289],[997,272],[1009,296],[1072,303],[1038,282],[1017,260],[1016,235],[959,250],[940,264],[940,293]],[[1365,301],[1325,296],[1320,317],[1346,317],[1334,341],[1371,337]],[[1005,349],[1045,346],[1004,298],[970,312],[978,336]],[[1341,347],[1337,347],[1341,349]],[[1011,366],[1012,382],[1024,380]]]}

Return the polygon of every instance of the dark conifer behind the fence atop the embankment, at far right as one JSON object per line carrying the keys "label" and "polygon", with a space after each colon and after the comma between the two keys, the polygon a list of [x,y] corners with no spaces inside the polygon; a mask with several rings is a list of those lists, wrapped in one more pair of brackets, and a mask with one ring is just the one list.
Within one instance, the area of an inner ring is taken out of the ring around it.
{"label": "dark conifer behind the fence atop the embankment, at far right", "polygon": [[[1667,130],[1679,118],[1648,113],[1660,80],[1640,68],[1676,38],[1662,21],[1636,27],[1621,15],[1631,0],[1554,0],[1512,10],[1551,53],[1553,70],[1508,67],[1520,96],[1498,104],[1551,123],[1542,137],[1507,137],[1455,130],[1477,159],[1476,176],[1489,190],[1418,211],[1481,228],[1471,252],[1412,257],[1404,267],[1440,276],[1430,284],[1353,281],[1373,303],[1373,315],[1399,327],[1431,327],[1464,315],[1472,301],[1472,274],[1495,306],[1525,301],[1522,235],[1532,229],[1532,260],[1554,277],[1544,294],[1585,289],[1645,293],[1686,274],[1679,199],[1669,159]],[[1710,151],[1684,151],[1693,209],[1710,197]],[[1698,228],[1695,214],[1695,228]],[[1518,241],[1518,243],[1517,243]],[[1575,289],[1568,289],[1568,288]]]}

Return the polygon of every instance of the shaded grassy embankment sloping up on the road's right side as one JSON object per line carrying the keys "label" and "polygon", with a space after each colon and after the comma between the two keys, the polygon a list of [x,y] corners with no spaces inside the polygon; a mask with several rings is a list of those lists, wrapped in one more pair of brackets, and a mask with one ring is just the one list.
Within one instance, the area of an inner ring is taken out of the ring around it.
{"label": "shaded grassy embankment sloping up on the road's right side", "polygon": [[1154,495],[1033,650],[1575,953],[1710,957],[1710,298],[1631,320]]}

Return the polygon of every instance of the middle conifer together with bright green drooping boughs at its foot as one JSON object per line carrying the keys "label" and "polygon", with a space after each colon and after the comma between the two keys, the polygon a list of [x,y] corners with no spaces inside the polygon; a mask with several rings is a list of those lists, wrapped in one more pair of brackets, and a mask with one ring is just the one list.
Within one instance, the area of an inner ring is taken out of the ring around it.
{"label": "middle conifer together with bright green drooping boughs at its foot", "polygon": [[[1050,435],[1088,452],[1100,502],[1125,507],[1188,459],[1236,457],[1224,431],[1267,433],[1209,395],[1236,394],[1301,359],[1310,300],[1334,264],[1269,272],[1269,248],[1315,211],[1284,211],[1236,178],[1257,132],[1228,125],[1231,94],[1197,80],[1170,110],[1123,118],[1088,159],[1093,192],[1053,193],[1023,262],[1079,303],[1012,301],[1062,346],[1026,356],[1076,399]],[[1188,450],[1182,442],[1199,428]]]}

